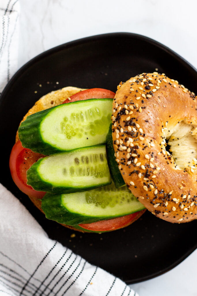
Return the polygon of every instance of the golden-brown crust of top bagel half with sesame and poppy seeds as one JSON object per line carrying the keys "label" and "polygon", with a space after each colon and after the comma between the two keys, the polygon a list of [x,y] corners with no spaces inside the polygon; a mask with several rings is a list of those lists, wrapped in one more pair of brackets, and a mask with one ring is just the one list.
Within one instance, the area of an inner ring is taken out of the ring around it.
{"label": "golden-brown crust of top bagel half with sesame and poppy seeds", "polygon": [[194,93],[157,72],[120,83],[113,101],[113,145],[124,181],[149,211],[172,223],[197,217],[197,155],[181,169],[165,138],[183,122],[196,141],[196,110]]}

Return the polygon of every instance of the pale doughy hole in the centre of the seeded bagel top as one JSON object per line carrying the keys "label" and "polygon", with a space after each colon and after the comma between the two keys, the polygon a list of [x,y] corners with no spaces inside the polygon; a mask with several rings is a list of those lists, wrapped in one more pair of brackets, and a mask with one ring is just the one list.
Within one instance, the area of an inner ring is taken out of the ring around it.
{"label": "pale doughy hole in the centre of the seeded bagel top", "polygon": [[197,168],[197,127],[180,121],[175,126],[169,126],[170,132],[165,135],[166,151],[172,155],[176,169],[190,173],[190,167]]}

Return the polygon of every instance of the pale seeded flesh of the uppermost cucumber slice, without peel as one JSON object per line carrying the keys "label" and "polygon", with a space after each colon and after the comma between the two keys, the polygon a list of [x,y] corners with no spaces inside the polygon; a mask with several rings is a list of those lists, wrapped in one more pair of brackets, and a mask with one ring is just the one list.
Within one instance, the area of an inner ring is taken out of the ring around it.
{"label": "pale seeded flesh of the uppermost cucumber slice, without peel", "polygon": [[89,99],[60,105],[40,124],[44,142],[59,150],[105,143],[113,99]]}

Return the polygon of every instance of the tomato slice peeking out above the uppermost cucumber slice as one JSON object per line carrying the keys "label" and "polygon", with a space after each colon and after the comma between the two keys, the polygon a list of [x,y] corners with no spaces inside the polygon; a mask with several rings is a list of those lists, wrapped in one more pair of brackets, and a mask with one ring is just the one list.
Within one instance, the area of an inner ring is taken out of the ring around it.
{"label": "tomato slice peeking out above the uppermost cucumber slice", "polygon": [[72,95],[70,97],[70,100],[66,99],[63,102],[63,104],[71,103],[75,101],[88,100],[88,99],[105,99],[105,98],[113,99],[114,96],[115,96],[115,93],[108,89],[86,89],[84,91],[79,91],[78,93]]}

